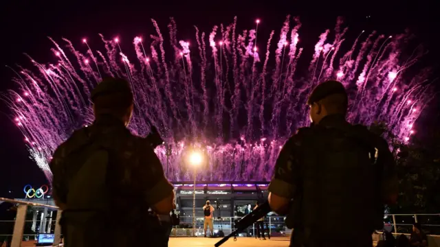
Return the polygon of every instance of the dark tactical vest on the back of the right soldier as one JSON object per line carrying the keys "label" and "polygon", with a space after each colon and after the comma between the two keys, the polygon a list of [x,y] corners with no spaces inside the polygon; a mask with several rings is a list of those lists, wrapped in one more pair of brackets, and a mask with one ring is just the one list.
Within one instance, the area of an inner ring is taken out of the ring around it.
{"label": "dark tactical vest on the back of the right soldier", "polygon": [[377,149],[360,126],[298,132],[298,181],[287,224],[318,233],[373,231],[383,225]]}

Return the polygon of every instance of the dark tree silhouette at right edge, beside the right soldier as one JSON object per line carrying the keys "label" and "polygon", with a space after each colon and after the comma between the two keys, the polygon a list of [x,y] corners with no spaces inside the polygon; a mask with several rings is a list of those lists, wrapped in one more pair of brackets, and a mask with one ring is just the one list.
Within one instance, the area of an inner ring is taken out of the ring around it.
{"label": "dark tree silhouette at right edge, beside the right soldier", "polygon": [[396,159],[399,198],[391,213],[438,213],[440,209],[440,131],[430,131],[428,138],[411,137],[400,141],[383,122],[370,130],[382,135]]}

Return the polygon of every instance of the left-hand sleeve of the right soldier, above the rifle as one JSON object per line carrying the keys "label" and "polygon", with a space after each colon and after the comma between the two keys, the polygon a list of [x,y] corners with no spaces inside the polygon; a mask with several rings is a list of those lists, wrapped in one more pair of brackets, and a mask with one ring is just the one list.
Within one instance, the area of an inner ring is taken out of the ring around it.
{"label": "left-hand sleeve of the right soldier, above the rifle", "polygon": [[276,159],[274,176],[269,185],[269,191],[283,198],[292,198],[295,190],[293,167],[296,165],[294,150],[296,139],[291,137],[281,149]]}

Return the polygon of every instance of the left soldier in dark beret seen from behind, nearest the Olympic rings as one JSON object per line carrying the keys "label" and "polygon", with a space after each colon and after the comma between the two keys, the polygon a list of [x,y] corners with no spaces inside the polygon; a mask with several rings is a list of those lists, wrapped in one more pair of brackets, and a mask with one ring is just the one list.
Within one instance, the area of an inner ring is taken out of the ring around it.
{"label": "left soldier in dark beret seen from behind, nearest the Olympic rings", "polygon": [[149,246],[164,246],[153,215],[175,207],[173,185],[151,141],[126,128],[133,112],[129,83],[104,79],[91,101],[94,124],[76,130],[50,163],[65,245],[139,246],[148,239]]}

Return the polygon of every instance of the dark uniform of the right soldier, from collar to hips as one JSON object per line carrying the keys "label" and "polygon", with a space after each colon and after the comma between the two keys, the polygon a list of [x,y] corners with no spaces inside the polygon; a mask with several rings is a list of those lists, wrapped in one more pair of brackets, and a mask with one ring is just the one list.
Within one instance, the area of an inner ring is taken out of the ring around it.
{"label": "dark uniform of the right soldier, from collar to hips", "polygon": [[[335,137],[340,132],[377,148],[378,168],[339,169],[345,153],[338,157],[340,162],[327,162],[329,152],[338,155]],[[352,126],[344,115],[327,115],[319,124],[300,128],[283,146],[269,187],[271,193],[293,199],[286,220],[294,228],[291,246],[372,246],[371,235],[383,224],[380,196],[396,190],[394,165],[386,141],[364,126]]]}

